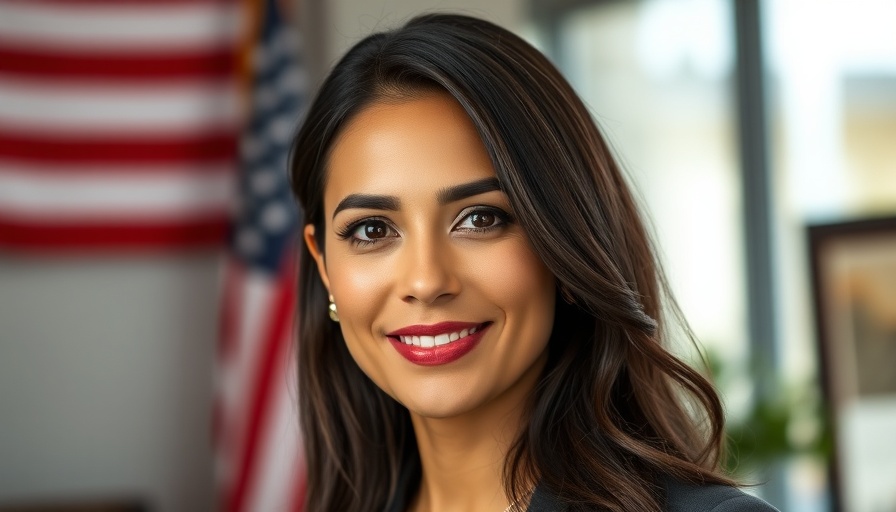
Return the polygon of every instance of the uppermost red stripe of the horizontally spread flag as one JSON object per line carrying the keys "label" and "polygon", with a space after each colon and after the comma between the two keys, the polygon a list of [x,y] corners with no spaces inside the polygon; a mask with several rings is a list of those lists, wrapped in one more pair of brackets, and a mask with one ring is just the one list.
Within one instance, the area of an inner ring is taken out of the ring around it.
{"label": "uppermost red stripe of the horizontally spread flag", "polygon": [[179,79],[228,78],[236,73],[236,49],[175,50],[142,54],[65,53],[16,48],[0,40],[0,74],[43,79],[103,82],[159,82]]}

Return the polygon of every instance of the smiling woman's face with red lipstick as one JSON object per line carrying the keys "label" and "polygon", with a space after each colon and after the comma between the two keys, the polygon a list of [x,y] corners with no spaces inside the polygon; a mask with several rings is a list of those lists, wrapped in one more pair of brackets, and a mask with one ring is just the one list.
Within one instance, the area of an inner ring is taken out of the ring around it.
{"label": "smiling woman's face with red lipstick", "polygon": [[[332,149],[325,254],[305,239],[361,369],[412,413],[516,403],[554,322],[554,278],[445,93],[372,104]],[[509,403],[508,402],[508,403]]]}

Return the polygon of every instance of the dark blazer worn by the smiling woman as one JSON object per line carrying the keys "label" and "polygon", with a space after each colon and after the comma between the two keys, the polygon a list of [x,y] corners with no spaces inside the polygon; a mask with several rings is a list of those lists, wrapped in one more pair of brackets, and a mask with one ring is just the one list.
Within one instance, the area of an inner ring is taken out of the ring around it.
{"label": "dark blazer worn by the smiling woman", "polygon": [[[667,512],[777,512],[768,503],[724,485],[665,484]],[[567,508],[542,486],[535,488],[528,512],[563,512]]]}

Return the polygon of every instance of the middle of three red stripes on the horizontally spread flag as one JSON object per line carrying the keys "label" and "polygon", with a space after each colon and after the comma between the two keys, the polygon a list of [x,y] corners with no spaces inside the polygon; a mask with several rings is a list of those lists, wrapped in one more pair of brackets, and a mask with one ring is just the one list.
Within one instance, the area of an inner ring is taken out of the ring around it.
{"label": "middle of three red stripes on the horizontally spread flag", "polygon": [[[90,138],[49,134],[24,135],[0,127],[0,158],[71,164],[128,164],[111,168],[119,173],[133,164],[233,161],[236,130],[170,137],[122,136],[114,133]],[[64,169],[62,169],[64,170]]]}

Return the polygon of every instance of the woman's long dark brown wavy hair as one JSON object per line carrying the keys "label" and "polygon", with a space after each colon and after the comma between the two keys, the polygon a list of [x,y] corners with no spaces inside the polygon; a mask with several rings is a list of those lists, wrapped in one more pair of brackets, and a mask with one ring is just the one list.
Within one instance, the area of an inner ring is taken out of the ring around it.
{"label": "woman's long dark brown wavy hair", "polygon": [[[570,85],[511,32],[466,16],[424,15],[367,37],[339,61],[291,162],[319,247],[326,250],[328,153],[341,128],[372,102],[431,89],[453,96],[472,119],[562,290],[548,362],[505,462],[508,496],[538,483],[573,508],[654,511],[666,478],[730,483],[716,472],[721,404],[707,380],[665,348],[663,313],[677,309],[661,303],[667,286],[620,169]],[[400,481],[420,464],[409,414],[352,360],[310,257],[299,286],[307,510],[383,510],[415,490]]]}

